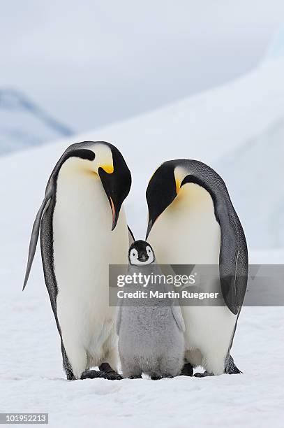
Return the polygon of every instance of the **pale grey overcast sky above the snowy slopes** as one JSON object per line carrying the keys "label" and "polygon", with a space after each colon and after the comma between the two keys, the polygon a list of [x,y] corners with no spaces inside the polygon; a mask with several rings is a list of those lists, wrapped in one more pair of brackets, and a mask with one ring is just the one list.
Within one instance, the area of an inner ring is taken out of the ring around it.
{"label": "pale grey overcast sky above the snowy slopes", "polygon": [[283,0],[0,0],[0,87],[82,131],[246,73]]}

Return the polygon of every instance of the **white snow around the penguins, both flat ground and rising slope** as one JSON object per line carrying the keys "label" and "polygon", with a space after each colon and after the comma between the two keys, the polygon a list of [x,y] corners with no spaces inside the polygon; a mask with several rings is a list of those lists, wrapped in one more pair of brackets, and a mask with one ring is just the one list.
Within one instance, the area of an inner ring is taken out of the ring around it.
{"label": "white snow around the penguins, both flat ground and rising slope", "polygon": [[[284,61],[276,59],[209,94],[90,131],[73,141],[59,141],[0,159],[1,412],[47,412],[52,427],[283,427],[283,308],[242,311],[232,355],[244,374],[156,382],[70,382],[61,369],[59,336],[39,251],[27,289],[22,293],[31,225],[50,171],[67,145],[102,139],[120,148],[133,173],[133,186],[126,202],[128,222],[135,236],[142,238],[147,220],[147,180],[165,159],[190,157],[211,165],[219,162],[220,168],[221,159],[227,159],[230,164],[224,171],[234,202],[238,176],[234,177],[232,171],[242,166],[234,164],[240,155],[234,155],[234,150],[240,153],[244,143],[251,138],[257,141],[255,138],[262,134],[267,136],[268,150],[270,134],[265,133],[284,117],[283,85],[279,85],[283,71]],[[277,129],[280,138],[282,125]],[[274,145],[278,145],[278,140]],[[266,152],[262,139],[260,147],[263,162]],[[275,150],[274,157],[277,153]],[[260,169],[253,170],[257,172],[255,176],[248,170],[247,164],[243,166],[242,172],[255,180],[255,185],[251,185],[253,191],[250,190],[253,194],[243,194],[249,203],[250,199],[262,198],[263,189],[257,185],[257,179],[262,180]],[[274,207],[262,206],[265,221],[277,211],[280,199],[275,199]],[[260,208],[248,211],[257,217]],[[279,208],[278,220],[280,215]],[[271,234],[277,234],[279,229]],[[255,233],[253,229],[249,232],[252,237]],[[266,250],[267,239],[258,245],[260,250],[250,252],[251,263],[283,262],[284,250]],[[269,241],[269,245],[273,242]]]}

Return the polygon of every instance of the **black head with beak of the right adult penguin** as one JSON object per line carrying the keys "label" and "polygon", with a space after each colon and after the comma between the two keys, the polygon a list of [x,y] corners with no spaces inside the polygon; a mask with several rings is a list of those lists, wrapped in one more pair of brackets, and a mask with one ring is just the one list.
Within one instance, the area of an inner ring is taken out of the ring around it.
{"label": "black head with beak of the right adult penguin", "polygon": [[174,161],[163,163],[155,171],[146,191],[146,199],[149,211],[148,229],[146,239],[149,232],[156,222],[158,216],[165,211],[165,208],[172,204],[174,198],[179,192],[179,184],[174,176],[175,169]]}

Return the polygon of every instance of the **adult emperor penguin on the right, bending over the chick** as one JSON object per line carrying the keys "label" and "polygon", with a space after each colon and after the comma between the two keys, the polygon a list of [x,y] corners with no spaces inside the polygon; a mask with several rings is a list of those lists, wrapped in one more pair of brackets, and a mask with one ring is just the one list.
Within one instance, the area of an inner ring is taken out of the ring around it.
{"label": "adult emperor penguin on the right, bending over the chick", "polygon": [[147,240],[158,263],[219,264],[223,306],[181,307],[186,361],[204,367],[195,376],[240,373],[230,349],[246,292],[248,251],[225,183],[206,164],[177,159],[155,171],[146,195]]}

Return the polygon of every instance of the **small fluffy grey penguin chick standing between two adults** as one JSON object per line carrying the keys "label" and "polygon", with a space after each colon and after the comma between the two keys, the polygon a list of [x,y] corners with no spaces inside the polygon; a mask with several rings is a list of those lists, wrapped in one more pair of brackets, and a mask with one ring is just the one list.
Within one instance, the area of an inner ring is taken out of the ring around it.
{"label": "small fluffy grey penguin chick standing between two adults", "polygon": [[[128,252],[128,276],[157,276],[154,250],[146,241],[135,241]],[[178,301],[168,298],[166,283],[129,285],[127,292],[142,291],[144,297],[132,304],[122,299],[117,311],[119,356],[124,377],[141,378],[145,373],[153,380],[178,376],[184,365],[184,320]],[[163,297],[151,297],[161,292]]]}

